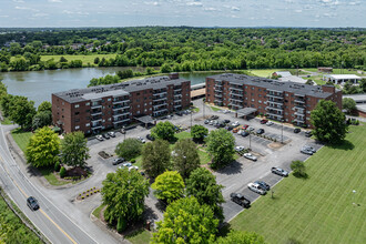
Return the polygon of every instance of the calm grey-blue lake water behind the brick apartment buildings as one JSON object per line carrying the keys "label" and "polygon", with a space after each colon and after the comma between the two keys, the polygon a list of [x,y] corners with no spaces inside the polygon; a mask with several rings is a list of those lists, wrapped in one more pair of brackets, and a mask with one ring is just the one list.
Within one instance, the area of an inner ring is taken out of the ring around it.
{"label": "calm grey-blue lake water behind the brick apartment buildings", "polygon": [[[38,106],[43,101],[51,101],[51,94],[70,89],[87,88],[92,78],[101,78],[106,74],[115,74],[120,70],[132,69],[144,71],[143,68],[83,68],[65,70],[44,70],[27,72],[3,72],[0,73],[2,82],[8,87],[8,93],[24,95],[35,102]],[[181,78],[191,81],[191,84],[205,82],[207,75],[213,72],[182,73]],[[138,78],[136,78],[138,79]]]}

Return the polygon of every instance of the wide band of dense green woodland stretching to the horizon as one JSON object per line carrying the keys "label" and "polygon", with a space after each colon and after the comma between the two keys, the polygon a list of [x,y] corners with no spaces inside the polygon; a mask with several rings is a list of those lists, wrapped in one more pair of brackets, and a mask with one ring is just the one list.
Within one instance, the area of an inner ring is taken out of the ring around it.
{"label": "wide band of dense green woodland stretching to the horizon", "polygon": [[87,65],[80,60],[40,61],[42,54],[108,53],[118,55],[98,58],[89,65],[162,67],[164,71],[315,67],[366,69],[365,29],[58,29],[4,33],[0,35],[0,47],[2,71]]}

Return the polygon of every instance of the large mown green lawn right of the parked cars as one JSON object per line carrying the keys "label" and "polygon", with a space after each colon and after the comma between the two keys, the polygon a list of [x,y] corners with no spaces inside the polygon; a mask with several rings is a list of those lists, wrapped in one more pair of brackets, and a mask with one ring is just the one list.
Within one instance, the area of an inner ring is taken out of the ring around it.
{"label": "large mown green lawn right of the parked cars", "polygon": [[350,132],[343,145],[324,146],[306,161],[307,180],[291,174],[274,187],[274,200],[262,196],[232,227],[268,243],[365,243],[366,126]]}

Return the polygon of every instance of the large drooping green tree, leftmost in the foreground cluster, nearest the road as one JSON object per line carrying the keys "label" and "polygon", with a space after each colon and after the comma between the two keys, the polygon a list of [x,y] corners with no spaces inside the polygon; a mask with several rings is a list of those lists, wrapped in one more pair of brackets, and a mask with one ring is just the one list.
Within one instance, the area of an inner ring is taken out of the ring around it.
{"label": "large drooping green tree, leftmost in the foreground cluster, nearest the road", "polygon": [[106,174],[102,184],[102,202],[106,205],[104,218],[108,223],[116,223],[118,231],[123,231],[126,225],[141,220],[149,182],[138,171],[119,169],[115,173]]}

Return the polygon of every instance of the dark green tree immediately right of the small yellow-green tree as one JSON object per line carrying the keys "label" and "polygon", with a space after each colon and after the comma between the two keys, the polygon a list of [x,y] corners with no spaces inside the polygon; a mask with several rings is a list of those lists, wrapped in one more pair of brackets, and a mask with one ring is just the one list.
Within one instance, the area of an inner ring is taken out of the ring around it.
{"label": "dark green tree immediately right of the small yellow-green tree", "polygon": [[191,173],[186,180],[186,194],[197,199],[200,204],[211,206],[215,216],[223,221],[222,203],[225,202],[222,195],[223,185],[216,183],[216,177],[204,167],[199,167]]}

